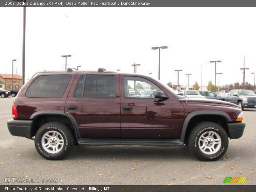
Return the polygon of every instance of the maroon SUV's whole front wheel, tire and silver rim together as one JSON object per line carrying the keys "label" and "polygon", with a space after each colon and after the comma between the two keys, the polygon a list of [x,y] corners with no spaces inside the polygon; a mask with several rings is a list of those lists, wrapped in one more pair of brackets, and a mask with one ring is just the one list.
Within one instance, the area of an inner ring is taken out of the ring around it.
{"label": "maroon SUV's whole front wheel, tire and silver rim together", "polygon": [[194,127],[188,138],[190,152],[201,161],[216,161],[228,149],[227,132],[219,124],[202,122]]}

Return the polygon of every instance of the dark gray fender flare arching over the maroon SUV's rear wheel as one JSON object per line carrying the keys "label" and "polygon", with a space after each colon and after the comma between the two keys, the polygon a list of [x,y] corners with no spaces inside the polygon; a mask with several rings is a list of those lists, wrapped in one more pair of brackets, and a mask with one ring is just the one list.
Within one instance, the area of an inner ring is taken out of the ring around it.
{"label": "dark gray fender flare arching over the maroon SUV's rear wheel", "polygon": [[34,120],[37,117],[42,116],[42,115],[61,115],[61,116],[68,117],[68,119],[70,120],[70,122],[72,123],[72,125],[74,127],[76,138],[81,138],[76,120],[75,120],[74,116],[72,116],[70,113],[65,113],[64,111],[43,110],[43,111],[37,111],[37,112],[33,113],[29,119]]}

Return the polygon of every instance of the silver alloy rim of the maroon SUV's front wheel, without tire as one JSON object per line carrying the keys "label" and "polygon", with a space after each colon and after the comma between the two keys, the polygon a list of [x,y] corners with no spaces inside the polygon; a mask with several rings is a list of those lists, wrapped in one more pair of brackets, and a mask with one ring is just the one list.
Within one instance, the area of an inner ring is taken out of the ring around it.
{"label": "silver alloy rim of the maroon SUV's front wheel, without tire", "polygon": [[212,155],[220,149],[220,135],[213,131],[205,132],[200,136],[198,146],[204,154]]}

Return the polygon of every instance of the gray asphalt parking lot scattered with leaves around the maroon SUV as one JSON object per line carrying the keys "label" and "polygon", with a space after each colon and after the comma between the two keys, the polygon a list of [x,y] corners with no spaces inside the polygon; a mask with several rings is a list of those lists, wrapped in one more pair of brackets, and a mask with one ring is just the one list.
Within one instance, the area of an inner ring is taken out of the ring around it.
{"label": "gray asphalt parking lot scattered with leaves around the maroon SUV", "polygon": [[224,158],[215,162],[198,161],[187,146],[75,146],[65,160],[49,161],[33,140],[9,133],[13,100],[0,98],[0,185],[29,184],[6,183],[6,177],[62,179],[34,185],[222,185],[226,177],[248,177],[242,185],[256,184],[256,109],[244,111],[243,137],[230,140]]}

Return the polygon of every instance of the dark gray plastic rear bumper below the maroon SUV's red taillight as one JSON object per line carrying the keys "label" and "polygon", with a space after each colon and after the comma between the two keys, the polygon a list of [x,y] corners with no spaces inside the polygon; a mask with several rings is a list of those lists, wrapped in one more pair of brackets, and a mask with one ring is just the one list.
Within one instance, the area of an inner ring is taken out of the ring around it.
{"label": "dark gray plastic rear bumper below the maroon SUV's red taillight", "polygon": [[9,132],[14,136],[32,138],[32,120],[14,120],[7,121]]}

